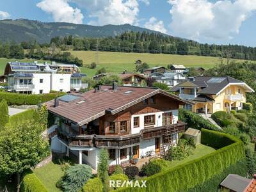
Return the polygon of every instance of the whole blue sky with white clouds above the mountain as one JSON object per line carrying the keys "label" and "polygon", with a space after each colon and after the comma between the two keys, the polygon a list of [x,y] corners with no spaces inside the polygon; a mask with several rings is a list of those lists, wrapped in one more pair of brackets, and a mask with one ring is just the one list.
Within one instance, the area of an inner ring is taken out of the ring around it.
{"label": "whole blue sky with white clouds above the mountain", "polygon": [[0,19],[9,18],[129,23],[202,43],[256,46],[254,0],[1,0]]}

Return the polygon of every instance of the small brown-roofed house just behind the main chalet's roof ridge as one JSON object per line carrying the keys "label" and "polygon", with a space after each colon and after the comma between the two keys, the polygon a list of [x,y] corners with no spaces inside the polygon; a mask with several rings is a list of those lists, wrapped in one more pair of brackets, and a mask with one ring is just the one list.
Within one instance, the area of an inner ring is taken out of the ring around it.
{"label": "small brown-roofed house just behind the main chalet's roof ridge", "polygon": [[118,76],[123,81],[125,86],[141,86],[143,81],[147,80],[146,77],[141,76],[140,74],[134,74],[125,71],[122,74],[119,74]]}

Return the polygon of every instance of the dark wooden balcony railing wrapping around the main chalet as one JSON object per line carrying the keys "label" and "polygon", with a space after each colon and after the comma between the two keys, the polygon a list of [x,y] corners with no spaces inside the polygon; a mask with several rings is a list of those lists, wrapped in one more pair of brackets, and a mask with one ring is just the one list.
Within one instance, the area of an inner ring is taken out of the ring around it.
{"label": "dark wooden balcony railing wrapping around the main chalet", "polygon": [[70,147],[106,147],[106,148],[125,148],[140,144],[140,138],[151,139],[164,136],[168,129],[168,134],[183,132],[186,123],[180,122],[162,127],[152,127],[141,130],[138,134],[128,134],[124,136],[108,135],[83,135],[73,136],[58,129],[58,137]]}

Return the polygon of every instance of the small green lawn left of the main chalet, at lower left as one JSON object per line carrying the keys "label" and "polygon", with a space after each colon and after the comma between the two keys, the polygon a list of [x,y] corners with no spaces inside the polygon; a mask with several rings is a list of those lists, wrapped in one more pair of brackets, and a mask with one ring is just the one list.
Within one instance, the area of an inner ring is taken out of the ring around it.
{"label": "small green lawn left of the main chalet, at lower left", "polygon": [[36,176],[42,181],[48,191],[60,191],[56,188],[56,182],[64,175],[60,164],[49,163],[33,170]]}

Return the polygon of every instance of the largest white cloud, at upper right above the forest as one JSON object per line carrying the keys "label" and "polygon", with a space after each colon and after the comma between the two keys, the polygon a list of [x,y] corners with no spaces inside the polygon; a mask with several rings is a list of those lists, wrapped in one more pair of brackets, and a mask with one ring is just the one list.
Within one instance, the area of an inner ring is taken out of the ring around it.
{"label": "largest white cloud, at upper right above the forest", "polygon": [[195,40],[221,40],[239,33],[256,10],[255,0],[169,0],[173,35]]}

